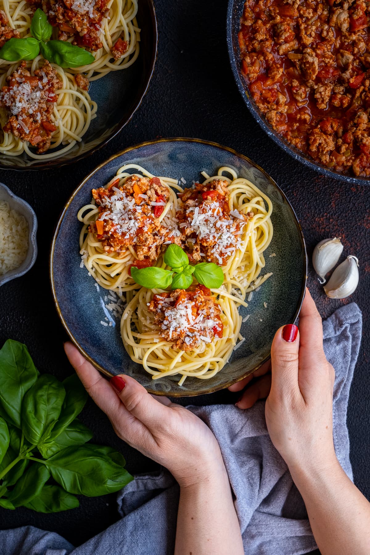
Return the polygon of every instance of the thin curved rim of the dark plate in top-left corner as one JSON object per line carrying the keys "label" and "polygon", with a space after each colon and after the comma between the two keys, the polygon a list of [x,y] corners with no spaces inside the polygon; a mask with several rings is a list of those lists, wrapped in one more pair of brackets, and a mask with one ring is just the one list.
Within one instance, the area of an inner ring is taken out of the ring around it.
{"label": "thin curved rim of the dark plate in top-left corner", "polygon": [[150,19],[152,20],[152,24],[153,24],[154,49],[150,60],[150,70],[148,72],[148,80],[143,88],[143,91],[141,92],[138,102],[136,102],[133,110],[129,114],[129,117],[123,123],[121,123],[120,121],[120,123],[118,124],[118,127],[115,129],[113,134],[110,135],[107,139],[104,139],[102,143],[98,144],[96,147],[93,147],[92,150],[88,150],[87,152],[77,155],[76,157],[70,158],[68,160],[58,160],[58,158],[55,158],[49,161],[45,160],[45,162],[43,162],[43,160],[38,160],[38,162],[36,162],[32,166],[8,166],[0,162],[0,169],[10,170],[10,171],[43,171],[48,169],[62,168],[63,166],[80,162],[80,160],[84,160],[85,158],[88,158],[89,156],[93,155],[100,148],[105,147],[110,142],[110,140],[114,139],[121,132],[121,130],[124,127],[126,127],[126,125],[131,121],[131,119],[134,117],[134,114],[137,112],[137,110],[140,108],[141,104],[143,103],[146,93],[148,93],[149,85],[150,85],[151,79],[153,78],[155,64],[158,58],[158,21],[157,21],[156,12],[155,12],[154,0],[146,0],[146,1],[148,2],[148,6],[150,7]]}

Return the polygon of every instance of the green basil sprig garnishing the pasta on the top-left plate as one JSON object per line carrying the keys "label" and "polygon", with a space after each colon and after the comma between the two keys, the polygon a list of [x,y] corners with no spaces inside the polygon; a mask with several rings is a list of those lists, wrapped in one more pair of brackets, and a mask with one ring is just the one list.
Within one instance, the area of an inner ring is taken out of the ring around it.
{"label": "green basil sprig garnishing the pasta on the top-left plate", "polygon": [[30,31],[32,37],[13,37],[7,41],[0,48],[0,58],[8,62],[33,60],[41,51],[46,60],[58,64],[62,68],[77,68],[81,65],[89,65],[95,60],[92,53],[70,42],[49,41],[53,27],[40,8],[37,8],[34,13]]}

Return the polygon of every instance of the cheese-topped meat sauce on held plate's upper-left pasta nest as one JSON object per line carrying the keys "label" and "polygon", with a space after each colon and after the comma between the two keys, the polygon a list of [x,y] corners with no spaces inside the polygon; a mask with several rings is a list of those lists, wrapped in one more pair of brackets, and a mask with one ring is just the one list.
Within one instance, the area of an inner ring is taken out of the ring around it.
{"label": "cheese-topped meat sauce on held plate's upper-left pasta nest", "polygon": [[139,260],[150,261],[158,258],[164,243],[180,245],[176,222],[166,215],[158,219],[170,198],[159,178],[132,175],[119,187],[118,182],[92,191],[100,215],[90,224],[90,231],[97,234],[104,250],[124,256],[127,247],[133,246]]}

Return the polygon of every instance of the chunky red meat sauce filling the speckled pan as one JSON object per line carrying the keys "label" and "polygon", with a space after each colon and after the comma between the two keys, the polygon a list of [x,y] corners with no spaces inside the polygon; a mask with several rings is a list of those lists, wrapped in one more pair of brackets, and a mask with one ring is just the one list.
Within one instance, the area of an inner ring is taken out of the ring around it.
{"label": "chunky red meat sauce filling the speckled pan", "polygon": [[267,121],[328,168],[370,175],[369,3],[247,0],[242,72]]}

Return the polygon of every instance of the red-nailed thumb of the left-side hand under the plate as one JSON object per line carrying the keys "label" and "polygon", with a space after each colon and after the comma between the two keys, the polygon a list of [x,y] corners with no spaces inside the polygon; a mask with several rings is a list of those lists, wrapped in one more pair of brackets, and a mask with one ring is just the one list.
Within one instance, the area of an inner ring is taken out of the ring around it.
{"label": "red-nailed thumb of the left-side hand under the plate", "polygon": [[171,409],[158,402],[136,380],[126,375],[113,376],[110,385],[131,415],[143,422],[149,430],[165,427]]}

